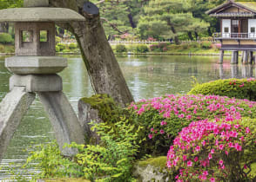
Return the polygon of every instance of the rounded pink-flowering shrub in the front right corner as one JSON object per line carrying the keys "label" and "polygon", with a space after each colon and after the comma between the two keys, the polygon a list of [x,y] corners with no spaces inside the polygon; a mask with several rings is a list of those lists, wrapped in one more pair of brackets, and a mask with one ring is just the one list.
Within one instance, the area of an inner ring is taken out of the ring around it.
{"label": "rounded pink-flowering shrub in the front right corner", "polygon": [[255,128],[248,119],[192,122],[173,141],[167,166],[178,170],[179,182],[255,181]]}

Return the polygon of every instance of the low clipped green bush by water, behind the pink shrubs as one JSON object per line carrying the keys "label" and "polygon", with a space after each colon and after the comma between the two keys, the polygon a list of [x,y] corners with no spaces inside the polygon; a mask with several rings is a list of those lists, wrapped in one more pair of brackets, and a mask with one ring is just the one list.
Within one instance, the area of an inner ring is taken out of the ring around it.
{"label": "low clipped green bush by water, behind the pink shrubs", "polygon": [[215,94],[256,101],[256,81],[253,78],[210,81],[197,84],[188,94]]}

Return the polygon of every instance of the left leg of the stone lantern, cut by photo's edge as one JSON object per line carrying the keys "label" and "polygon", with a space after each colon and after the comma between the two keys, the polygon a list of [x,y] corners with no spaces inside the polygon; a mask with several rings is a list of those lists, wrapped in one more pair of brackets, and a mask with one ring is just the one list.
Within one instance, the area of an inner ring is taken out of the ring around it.
{"label": "left leg of the stone lantern, cut by photo's edge", "polygon": [[0,161],[24,114],[35,99],[24,87],[14,87],[0,103]]}

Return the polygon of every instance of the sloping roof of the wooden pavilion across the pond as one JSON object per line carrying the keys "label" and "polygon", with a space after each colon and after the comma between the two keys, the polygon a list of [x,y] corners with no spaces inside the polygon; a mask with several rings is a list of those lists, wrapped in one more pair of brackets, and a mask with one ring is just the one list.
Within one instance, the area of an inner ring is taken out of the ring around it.
{"label": "sloping roof of the wooden pavilion across the pond", "polygon": [[[238,8],[239,12],[228,12],[228,9]],[[234,2],[227,1],[219,6],[205,12],[210,16],[217,17],[253,17],[256,16],[256,2]]]}

